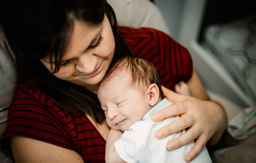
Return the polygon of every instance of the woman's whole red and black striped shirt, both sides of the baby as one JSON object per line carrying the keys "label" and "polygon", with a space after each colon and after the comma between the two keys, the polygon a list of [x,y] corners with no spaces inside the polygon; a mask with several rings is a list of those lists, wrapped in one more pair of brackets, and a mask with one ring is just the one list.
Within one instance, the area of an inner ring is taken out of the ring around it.
{"label": "woman's whole red and black striped shirt, both sides of the baby", "polygon": [[[162,82],[173,88],[188,81],[193,68],[188,51],[168,35],[149,28],[120,28],[135,55],[159,69]],[[85,162],[105,162],[106,141],[82,113],[68,113],[30,85],[19,86],[8,113],[0,144],[11,152],[9,138],[25,136],[78,152]]]}

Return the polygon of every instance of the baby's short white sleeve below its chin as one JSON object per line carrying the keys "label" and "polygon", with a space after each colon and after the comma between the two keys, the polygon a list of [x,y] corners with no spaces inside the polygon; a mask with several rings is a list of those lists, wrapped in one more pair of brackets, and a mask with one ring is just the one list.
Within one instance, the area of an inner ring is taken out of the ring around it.
{"label": "baby's short white sleeve below its chin", "polygon": [[125,131],[114,145],[117,154],[125,162],[137,163],[141,161],[140,137],[133,131]]}

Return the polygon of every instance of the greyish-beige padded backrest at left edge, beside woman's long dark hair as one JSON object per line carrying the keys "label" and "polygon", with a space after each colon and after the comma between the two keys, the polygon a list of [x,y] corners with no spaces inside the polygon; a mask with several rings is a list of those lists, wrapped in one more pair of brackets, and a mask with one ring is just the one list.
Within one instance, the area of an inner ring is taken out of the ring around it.
{"label": "greyish-beige padded backrest at left edge, beside woman's long dark hair", "polygon": [[[0,137],[7,124],[8,107],[11,105],[16,90],[15,56],[6,40],[3,27],[0,25]],[[0,162],[12,163],[10,153],[0,146]]]}

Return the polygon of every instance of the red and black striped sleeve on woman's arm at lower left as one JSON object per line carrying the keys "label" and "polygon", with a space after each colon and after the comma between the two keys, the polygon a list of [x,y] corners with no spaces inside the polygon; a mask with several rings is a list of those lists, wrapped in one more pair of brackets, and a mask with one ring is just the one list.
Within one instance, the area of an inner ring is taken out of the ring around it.
{"label": "red and black striped sleeve on woman's arm at lower left", "polygon": [[28,93],[17,96],[8,113],[0,144],[9,152],[12,152],[9,141],[12,136],[28,137],[75,150],[70,130],[58,113]]}

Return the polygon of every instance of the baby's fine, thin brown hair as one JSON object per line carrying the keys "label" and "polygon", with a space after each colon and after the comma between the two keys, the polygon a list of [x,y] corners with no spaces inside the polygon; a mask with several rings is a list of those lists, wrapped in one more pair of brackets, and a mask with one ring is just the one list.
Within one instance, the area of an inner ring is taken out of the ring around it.
{"label": "baby's fine, thin brown hair", "polygon": [[[121,76],[124,74],[124,71],[130,75],[130,86],[132,88],[137,89],[143,94],[150,84],[155,83],[159,88],[159,97],[164,99],[160,73],[152,63],[136,56],[126,56],[117,60],[110,66],[107,74],[100,83],[100,87],[107,84],[107,82],[111,81],[114,77]],[[126,73],[124,75],[126,75]]]}

